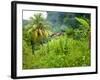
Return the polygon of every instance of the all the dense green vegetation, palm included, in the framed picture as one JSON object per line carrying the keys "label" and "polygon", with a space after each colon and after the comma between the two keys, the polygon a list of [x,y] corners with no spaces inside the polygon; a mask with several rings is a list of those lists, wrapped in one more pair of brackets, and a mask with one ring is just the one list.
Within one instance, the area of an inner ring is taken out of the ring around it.
{"label": "all the dense green vegetation, palm included, in the framed picture", "polygon": [[57,31],[42,14],[33,15],[23,26],[23,69],[90,66],[90,19],[84,15],[73,17],[76,27],[69,22]]}

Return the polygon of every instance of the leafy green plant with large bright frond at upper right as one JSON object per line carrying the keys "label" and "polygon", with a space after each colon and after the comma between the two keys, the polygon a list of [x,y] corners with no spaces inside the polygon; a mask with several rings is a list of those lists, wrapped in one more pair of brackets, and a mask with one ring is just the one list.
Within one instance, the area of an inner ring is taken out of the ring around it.
{"label": "leafy green plant with large bright frond at upper right", "polygon": [[90,32],[89,21],[87,19],[75,17],[75,19],[80,23],[79,28],[69,27],[66,29],[66,34],[68,37],[73,39],[82,40],[87,38]]}

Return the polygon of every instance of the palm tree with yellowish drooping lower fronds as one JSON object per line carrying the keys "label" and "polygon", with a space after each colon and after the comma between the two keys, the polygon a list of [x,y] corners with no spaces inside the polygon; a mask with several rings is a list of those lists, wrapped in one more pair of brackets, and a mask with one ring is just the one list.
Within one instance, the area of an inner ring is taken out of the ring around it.
{"label": "palm tree with yellowish drooping lower fronds", "polygon": [[42,17],[42,14],[35,14],[30,18],[31,28],[28,33],[31,36],[32,51],[34,53],[35,44],[42,44],[49,35],[49,23]]}

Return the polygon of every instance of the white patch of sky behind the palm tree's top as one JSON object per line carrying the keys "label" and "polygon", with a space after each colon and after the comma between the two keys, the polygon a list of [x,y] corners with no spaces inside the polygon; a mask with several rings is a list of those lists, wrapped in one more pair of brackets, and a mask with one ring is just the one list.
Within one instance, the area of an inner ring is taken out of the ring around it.
{"label": "white patch of sky behind the palm tree's top", "polygon": [[23,11],[23,19],[29,20],[34,14],[41,13],[44,18],[47,18],[47,12],[44,11]]}

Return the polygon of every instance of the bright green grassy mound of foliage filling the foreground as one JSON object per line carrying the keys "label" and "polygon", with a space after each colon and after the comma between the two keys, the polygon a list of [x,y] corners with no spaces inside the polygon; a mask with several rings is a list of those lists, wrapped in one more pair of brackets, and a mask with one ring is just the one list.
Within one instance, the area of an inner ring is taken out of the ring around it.
{"label": "bright green grassy mound of foliage filling the foreground", "polygon": [[[66,36],[52,39],[47,44],[39,46],[31,60],[30,68],[52,68],[52,67],[77,67],[90,65],[90,51],[88,42],[73,40]],[[27,48],[26,48],[27,49]],[[28,61],[24,61],[25,63]],[[28,66],[26,64],[24,66]]]}

